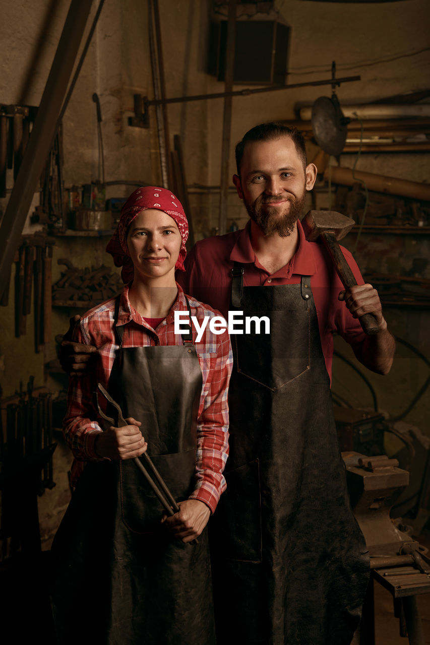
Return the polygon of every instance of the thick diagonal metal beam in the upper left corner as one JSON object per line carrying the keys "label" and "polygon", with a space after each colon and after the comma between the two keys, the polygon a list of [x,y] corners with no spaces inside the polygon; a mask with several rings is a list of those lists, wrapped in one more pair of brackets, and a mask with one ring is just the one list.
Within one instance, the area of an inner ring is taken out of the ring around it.
{"label": "thick diagonal metal beam in the upper left corner", "polygon": [[72,0],[70,3],[32,134],[0,223],[0,285],[8,279],[28,209],[56,134],[57,119],[91,7],[92,0]]}

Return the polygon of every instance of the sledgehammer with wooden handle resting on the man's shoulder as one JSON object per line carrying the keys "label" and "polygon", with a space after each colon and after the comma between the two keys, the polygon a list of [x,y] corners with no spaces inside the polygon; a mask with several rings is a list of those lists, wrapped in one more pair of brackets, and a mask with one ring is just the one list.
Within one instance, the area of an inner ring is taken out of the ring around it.
{"label": "sledgehammer with wooden handle resting on the man's shoulder", "polygon": [[[306,239],[309,242],[316,242],[318,237],[321,237],[345,289],[351,288],[351,286],[357,284],[357,281],[340,250],[338,240],[345,237],[354,224],[355,222],[351,217],[346,217],[333,210],[310,210],[302,220]],[[378,333],[378,324],[371,313],[365,313],[358,320],[365,333],[369,335]]]}

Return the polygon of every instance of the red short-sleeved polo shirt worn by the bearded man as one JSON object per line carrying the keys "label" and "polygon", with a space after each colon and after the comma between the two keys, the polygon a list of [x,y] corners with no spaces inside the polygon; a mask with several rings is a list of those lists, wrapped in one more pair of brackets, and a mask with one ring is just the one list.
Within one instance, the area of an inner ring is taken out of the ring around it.
{"label": "red short-sleeved polo shirt worn by the bearded man", "polygon": [[[305,239],[302,224],[298,222],[299,244],[295,255],[276,273],[269,273],[261,264],[251,246],[251,222],[245,228],[208,237],[196,243],[185,259],[185,273],[178,272],[176,279],[186,293],[203,303],[220,310],[225,317],[230,309],[231,270],[234,262],[244,265],[244,286],[274,286],[300,283],[302,275],[309,275],[320,328],[322,350],[327,372],[331,377],[333,362],[333,332],[355,347],[365,339],[358,320],[354,319],[345,303],[338,300],[343,290],[334,270],[333,262],[321,243]],[[353,256],[343,248],[358,284],[363,278]]]}

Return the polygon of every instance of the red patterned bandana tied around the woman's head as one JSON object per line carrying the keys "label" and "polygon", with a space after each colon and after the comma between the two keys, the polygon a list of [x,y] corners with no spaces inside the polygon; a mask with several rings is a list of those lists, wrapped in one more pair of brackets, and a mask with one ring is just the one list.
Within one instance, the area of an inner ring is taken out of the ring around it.
{"label": "red patterned bandana tied around the woman's head", "polygon": [[135,190],[121,209],[121,219],[119,219],[116,231],[109,240],[106,250],[114,258],[115,266],[122,266],[121,277],[124,283],[130,282],[134,276],[134,266],[128,254],[127,248],[127,231],[128,227],[142,210],[156,208],[170,215],[176,222],[181,233],[181,248],[179,257],[176,261],[175,268],[185,271],[183,261],[187,251],[185,242],[188,239],[188,222],[183,211],[182,204],[178,197],[175,197],[170,190],[166,188],[155,188],[155,186],[142,186]]}

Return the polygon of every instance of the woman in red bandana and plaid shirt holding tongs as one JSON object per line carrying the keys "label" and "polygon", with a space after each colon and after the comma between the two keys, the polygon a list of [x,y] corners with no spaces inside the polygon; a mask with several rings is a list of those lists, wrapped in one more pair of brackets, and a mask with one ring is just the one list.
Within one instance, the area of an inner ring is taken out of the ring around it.
{"label": "woman in red bandana and plaid shirt holding tongs", "polygon": [[[215,642],[205,526],[225,488],[232,355],[228,334],[209,325],[199,342],[195,326],[174,332],[175,312],[200,327],[218,313],[174,279],[187,237],[175,195],[134,191],[107,246],[123,292],[83,315],[74,333],[96,346],[97,360],[70,379],[63,422],[76,490],[52,546],[61,643]],[[97,383],[126,426],[103,422]],[[178,501],[171,517],[134,464],[145,451]]]}

